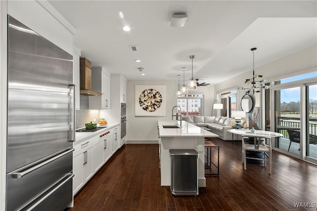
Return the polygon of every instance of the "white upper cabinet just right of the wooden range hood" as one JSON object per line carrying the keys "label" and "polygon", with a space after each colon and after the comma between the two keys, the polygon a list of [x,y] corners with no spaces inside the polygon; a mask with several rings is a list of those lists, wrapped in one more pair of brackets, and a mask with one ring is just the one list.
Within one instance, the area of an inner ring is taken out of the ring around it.
{"label": "white upper cabinet just right of the wooden range hood", "polygon": [[89,109],[110,109],[110,74],[103,67],[92,67],[92,89],[102,96],[89,96]]}

